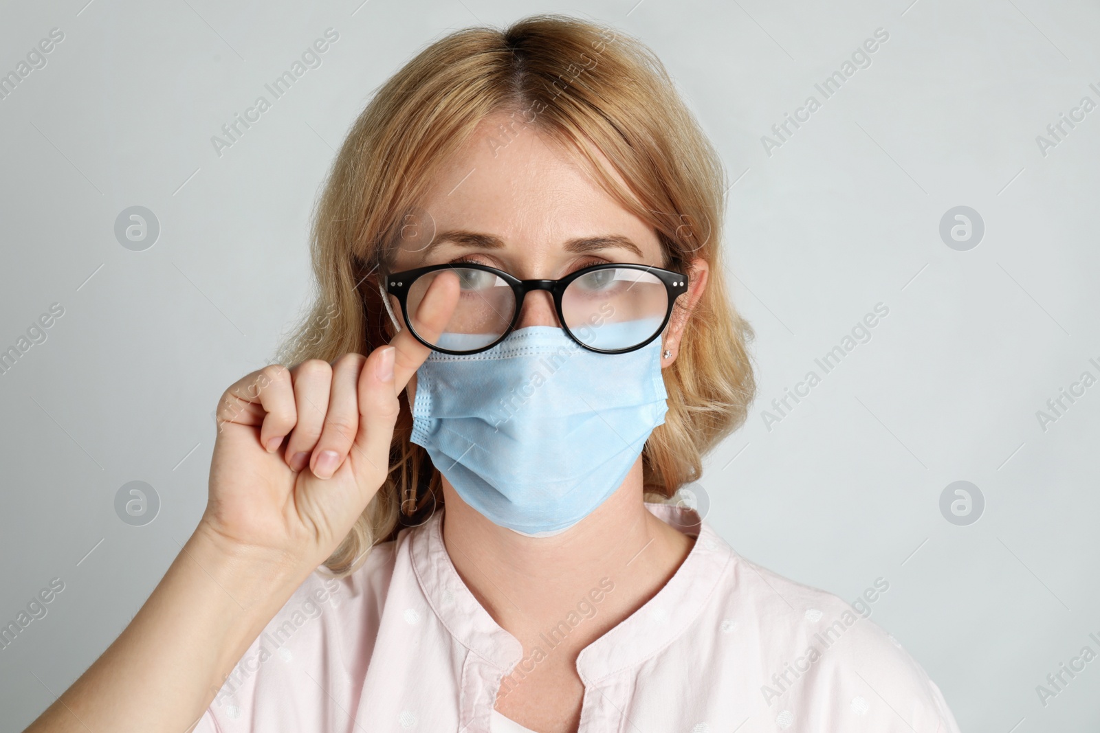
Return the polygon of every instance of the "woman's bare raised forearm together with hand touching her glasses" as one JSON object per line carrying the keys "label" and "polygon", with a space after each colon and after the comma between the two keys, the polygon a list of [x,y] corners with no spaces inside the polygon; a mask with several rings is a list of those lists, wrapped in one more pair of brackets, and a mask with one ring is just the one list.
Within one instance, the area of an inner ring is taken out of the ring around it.
{"label": "woman's bare raised forearm together with hand touching her glasses", "polygon": [[[446,275],[414,320],[430,338],[458,303],[458,277]],[[119,637],[28,733],[193,730],[378,491],[397,396],[430,353],[403,329],[370,356],[267,366],[227,389],[199,525]]]}

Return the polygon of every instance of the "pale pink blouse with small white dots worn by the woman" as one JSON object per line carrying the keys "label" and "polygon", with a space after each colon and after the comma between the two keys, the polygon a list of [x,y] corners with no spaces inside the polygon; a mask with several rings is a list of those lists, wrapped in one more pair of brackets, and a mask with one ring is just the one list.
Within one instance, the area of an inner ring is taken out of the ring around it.
{"label": "pale pink blouse with small white dots worn by the woman", "polygon": [[[866,618],[888,582],[849,604],[740,557],[693,510],[646,507],[696,541],[652,599],[581,652],[580,733],[958,733],[939,688]],[[493,708],[532,655],[463,584],[441,517],[377,545],[346,578],[314,573],[196,733],[527,731]]]}

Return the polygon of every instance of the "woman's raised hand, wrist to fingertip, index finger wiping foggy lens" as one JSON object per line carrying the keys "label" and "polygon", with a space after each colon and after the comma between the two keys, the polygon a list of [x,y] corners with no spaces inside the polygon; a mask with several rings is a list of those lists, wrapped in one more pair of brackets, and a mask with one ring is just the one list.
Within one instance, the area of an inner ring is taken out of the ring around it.
{"label": "woman's raised hand, wrist to fingertip, index finger wiping foggy lens", "polygon": [[[438,336],[458,298],[457,276],[436,277],[417,332]],[[298,569],[324,562],[384,482],[397,396],[430,353],[403,327],[365,357],[270,365],[234,382],[218,406],[202,523]]]}

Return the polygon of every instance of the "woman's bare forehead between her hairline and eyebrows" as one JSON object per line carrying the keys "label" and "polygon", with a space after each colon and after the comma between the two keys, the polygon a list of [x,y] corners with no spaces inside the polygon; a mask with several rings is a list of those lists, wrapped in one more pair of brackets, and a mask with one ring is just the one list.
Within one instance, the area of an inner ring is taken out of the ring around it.
{"label": "woman's bare forehead between her hairline and eyebrows", "polygon": [[[628,190],[610,160],[598,149],[593,153]],[[420,206],[438,232],[492,234],[509,249],[552,251],[571,238],[617,234],[637,243],[644,259],[660,262],[652,227],[605,192],[576,155],[530,125],[492,115],[440,166]],[[416,260],[415,254],[398,257]]]}

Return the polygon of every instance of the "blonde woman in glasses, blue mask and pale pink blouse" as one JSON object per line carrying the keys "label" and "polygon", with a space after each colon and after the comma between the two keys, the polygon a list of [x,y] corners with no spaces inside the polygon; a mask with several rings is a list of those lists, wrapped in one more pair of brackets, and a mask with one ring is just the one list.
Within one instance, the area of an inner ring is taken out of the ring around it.
{"label": "blonde woman in glasses, blue mask and pale pink blouse", "polygon": [[662,503],[754,393],[724,190],[627,36],[419,54],[336,159],[294,366],[226,391],[199,526],[29,730],[957,731],[853,607]]}

